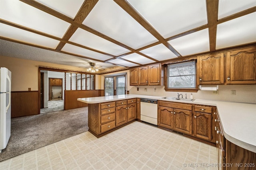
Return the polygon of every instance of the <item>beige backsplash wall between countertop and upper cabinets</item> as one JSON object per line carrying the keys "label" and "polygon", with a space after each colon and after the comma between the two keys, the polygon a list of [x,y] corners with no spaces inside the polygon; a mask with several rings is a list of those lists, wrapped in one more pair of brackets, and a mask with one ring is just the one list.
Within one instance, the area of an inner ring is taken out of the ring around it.
{"label": "beige backsplash wall between countertop and upper cabinets", "polygon": [[[137,91],[137,87],[139,91]],[[154,91],[154,87],[156,91]],[[147,91],[145,91],[145,88]],[[236,95],[231,94],[231,90],[236,90]],[[187,98],[190,97],[190,92],[166,92],[164,86],[132,86],[130,94],[142,94],[152,96],[168,96],[177,97],[177,93],[187,94]],[[244,102],[256,104],[256,84],[252,85],[219,85],[218,94],[214,94],[213,91],[198,90],[196,93],[192,93],[194,99],[206,99],[206,100],[221,100],[230,102]]]}

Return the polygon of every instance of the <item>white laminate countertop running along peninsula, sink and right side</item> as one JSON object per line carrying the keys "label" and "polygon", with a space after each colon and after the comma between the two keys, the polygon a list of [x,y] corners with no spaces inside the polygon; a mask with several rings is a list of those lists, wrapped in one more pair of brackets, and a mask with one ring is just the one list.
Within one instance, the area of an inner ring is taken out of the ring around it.
{"label": "white laminate countertop running along peninsula, sink and right side", "polygon": [[224,137],[244,148],[256,153],[256,104],[246,104],[237,102],[223,102],[215,100],[195,99],[193,102],[163,99],[164,96],[146,96],[138,94],[126,94],[118,96],[102,96],[93,98],[78,98],[80,102],[95,104],[125,100],[130,98],[146,98],[155,100],[165,100],[172,102],[201,104],[216,106],[220,116],[220,122]]}

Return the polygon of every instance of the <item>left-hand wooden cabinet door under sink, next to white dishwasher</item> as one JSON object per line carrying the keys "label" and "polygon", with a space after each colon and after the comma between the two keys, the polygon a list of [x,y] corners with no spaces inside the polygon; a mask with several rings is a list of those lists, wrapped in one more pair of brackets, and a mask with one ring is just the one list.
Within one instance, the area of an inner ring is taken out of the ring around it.
{"label": "left-hand wooden cabinet door under sink, next to white dishwasher", "polygon": [[158,126],[173,129],[173,108],[158,107]]}

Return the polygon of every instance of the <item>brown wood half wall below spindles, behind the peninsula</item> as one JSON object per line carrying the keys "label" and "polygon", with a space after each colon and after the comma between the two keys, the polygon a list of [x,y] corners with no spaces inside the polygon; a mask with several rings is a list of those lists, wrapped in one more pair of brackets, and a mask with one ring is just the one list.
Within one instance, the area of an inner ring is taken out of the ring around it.
{"label": "brown wood half wall below spindles, behind the peninsula", "polygon": [[87,107],[88,104],[77,101],[78,98],[104,96],[104,90],[65,90],[64,110]]}

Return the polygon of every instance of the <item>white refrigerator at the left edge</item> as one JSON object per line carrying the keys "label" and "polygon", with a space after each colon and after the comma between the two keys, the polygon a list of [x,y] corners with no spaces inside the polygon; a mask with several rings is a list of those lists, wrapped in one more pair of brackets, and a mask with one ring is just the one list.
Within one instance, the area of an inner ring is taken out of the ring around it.
{"label": "white refrigerator at the left edge", "polygon": [[0,68],[0,153],[11,136],[11,72]]}

